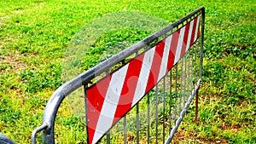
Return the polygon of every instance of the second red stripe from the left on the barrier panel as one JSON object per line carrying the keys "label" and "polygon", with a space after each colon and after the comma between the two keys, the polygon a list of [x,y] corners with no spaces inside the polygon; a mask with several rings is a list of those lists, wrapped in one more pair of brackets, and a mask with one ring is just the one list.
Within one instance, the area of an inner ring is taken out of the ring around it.
{"label": "second red stripe from the left on the barrier panel", "polygon": [[144,55],[145,53],[130,61],[125,76],[123,89],[119,97],[119,103],[114,115],[113,124],[115,124],[119,120],[119,118],[122,118],[125,113],[131,109],[131,104],[133,101],[135,90],[137,88],[138,78],[141,72],[141,68],[143,66]]}

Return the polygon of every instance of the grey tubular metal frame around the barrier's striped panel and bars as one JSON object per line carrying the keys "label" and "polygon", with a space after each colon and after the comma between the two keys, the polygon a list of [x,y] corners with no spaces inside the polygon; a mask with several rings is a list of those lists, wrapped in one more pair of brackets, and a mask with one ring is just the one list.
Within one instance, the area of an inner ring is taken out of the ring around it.
{"label": "grey tubular metal frame around the barrier's striped panel and bars", "polygon": [[[204,41],[204,24],[205,24],[205,9],[204,9],[204,7],[196,9],[194,12],[184,16],[180,20],[177,20],[176,22],[172,23],[170,26],[166,26],[165,28],[163,28],[159,32],[155,32],[153,35],[151,35],[149,37],[146,37],[141,42],[132,45],[130,48],[123,50],[122,52],[120,52],[117,55],[113,55],[113,57],[111,57],[110,59],[103,61],[99,65],[94,66],[93,68],[91,68],[89,71],[86,71],[86,72],[80,74],[78,77],[73,78],[72,80],[68,81],[66,84],[61,85],[61,87],[56,89],[54,94],[51,95],[51,97],[50,97],[50,99],[47,103],[47,106],[45,107],[42,125],[40,127],[38,127],[36,130],[33,130],[33,132],[32,132],[32,143],[33,144],[36,143],[36,135],[37,135],[38,132],[40,132],[42,130],[43,130],[42,138],[43,138],[44,143],[47,143],[47,144],[55,143],[55,139],[54,139],[55,117],[56,117],[56,113],[58,111],[58,108],[61,106],[61,102],[65,99],[65,97],[67,95],[72,93],[74,90],[79,89],[83,85],[86,85],[86,84],[90,83],[91,79],[96,78],[96,76],[98,76],[102,72],[107,72],[112,66],[119,63],[122,60],[125,60],[125,58],[127,58],[128,56],[137,53],[140,49],[143,49],[143,48],[147,47],[150,43],[154,42],[159,37],[163,37],[163,36],[165,37],[167,32],[172,32],[173,28],[183,25],[184,21],[188,21],[189,19],[191,19],[191,17],[195,16],[196,14],[201,14],[202,15],[202,17],[201,17],[200,79],[198,80],[197,84],[195,85],[195,89],[193,89],[191,95],[189,96],[189,101],[185,104],[185,107],[184,107],[183,111],[181,112],[180,117],[177,118],[177,123],[175,124],[175,127],[172,129],[170,135],[167,138],[166,143],[169,143],[172,140],[172,137],[173,137],[175,131],[177,130],[177,127],[180,124],[184,113],[186,112],[187,108],[189,107],[189,103],[192,101],[193,96],[195,95],[195,93],[198,92],[199,86],[201,84],[202,56],[203,56],[202,49],[203,49],[203,41]],[[176,66],[176,69],[177,69],[177,66]],[[171,79],[171,83],[172,83],[172,76],[170,77],[170,79]],[[177,83],[177,79],[176,79],[176,83]],[[156,91],[157,90],[158,90],[158,88],[156,87]],[[177,88],[176,88],[176,91],[177,91]],[[157,95],[156,95],[155,100],[156,100],[156,103],[157,103],[158,102],[157,101]],[[149,103],[149,101],[148,101],[148,103]],[[174,107],[174,108],[176,109],[177,107]],[[155,109],[155,111],[156,111],[156,114],[155,114],[156,123],[157,123],[157,117],[158,117],[157,116],[157,113],[158,113],[157,109],[158,109],[158,107],[156,107],[156,109]],[[137,113],[138,113],[138,110],[139,110],[139,108],[138,108],[138,105],[137,105]],[[147,110],[147,112],[149,113],[149,109]],[[170,119],[171,119],[171,117],[170,117]],[[125,121],[125,118],[124,118],[124,125],[125,125],[125,123],[126,123],[126,121]],[[171,123],[171,121],[170,121],[170,123]],[[155,135],[156,135],[156,137],[158,135],[157,134],[157,126],[158,125],[155,124],[155,129],[156,129],[156,134]],[[139,123],[137,122],[137,129],[138,129],[138,127],[139,127]],[[171,130],[171,128],[170,128],[170,130]],[[138,133],[137,133],[137,135],[138,135]],[[147,135],[149,136],[149,131],[147,132]],[[124,135],[124,137],[125,137],[125,143],[126,143],[126,134]],[[158,139],[156,138],[155,142],[157,143],[157,141],[158,141]],[[139,142],[139,139],[137,139],[137,143],[138,142]],[[150,141],[148,140],[148,143],[149,142]]]}

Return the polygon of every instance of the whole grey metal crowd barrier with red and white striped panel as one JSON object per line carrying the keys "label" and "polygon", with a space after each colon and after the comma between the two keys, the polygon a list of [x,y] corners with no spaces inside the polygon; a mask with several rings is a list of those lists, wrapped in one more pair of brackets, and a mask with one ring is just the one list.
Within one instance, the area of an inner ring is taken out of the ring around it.
{"label": "whole grey metal crowd barrier with red and white striped panel", "polygon": [[[201,7],[61,85],[45,107],[42,125],[33,130],[32,143],[40,131],[44,143],[55,143],[58,108],[81,87],[87,143],[110,143],[112,136],[124,143],[170,143],[201,84],[204,21]],[[92,83],[95,78],[101,80]]]}

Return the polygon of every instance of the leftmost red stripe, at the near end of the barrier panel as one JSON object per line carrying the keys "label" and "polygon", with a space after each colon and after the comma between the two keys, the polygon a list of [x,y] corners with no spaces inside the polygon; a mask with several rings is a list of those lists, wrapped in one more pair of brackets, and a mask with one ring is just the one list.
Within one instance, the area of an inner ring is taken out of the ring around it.
{"label": "leftmost red stripe, at the near end of the barrier panel", "polygon": [[102,81],[87,89],[87,130],[89,143],[92,143],[110,80],[111,76],[103,78]]}

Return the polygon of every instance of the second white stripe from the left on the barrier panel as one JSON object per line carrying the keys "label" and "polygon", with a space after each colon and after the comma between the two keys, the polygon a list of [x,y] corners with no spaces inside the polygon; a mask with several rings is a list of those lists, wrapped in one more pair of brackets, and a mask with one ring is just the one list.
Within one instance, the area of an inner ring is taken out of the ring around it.
{"label": "second white stripe from the left on the barrier panel", "polygon": [[145,93],[145,90],[148,84],[149,72],[151,70],[151,65],[154,58],[154,52],[155,52],[155,46],[154,48],[148,50],[144,55],[143,66],[137,81],[137,87],[135,90],[131,107],[133,107],[137,103],[137,101],[139,101],[143,97]]}

